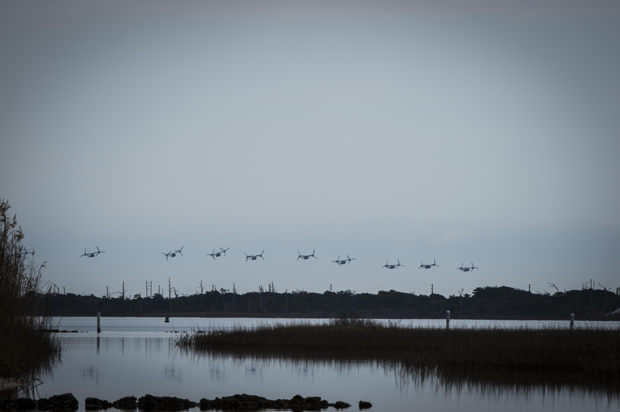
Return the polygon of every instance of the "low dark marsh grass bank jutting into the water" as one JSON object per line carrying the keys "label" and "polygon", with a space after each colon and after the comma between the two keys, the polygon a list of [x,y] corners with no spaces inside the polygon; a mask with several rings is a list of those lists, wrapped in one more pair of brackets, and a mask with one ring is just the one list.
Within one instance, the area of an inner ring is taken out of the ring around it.
{"label": "low dark marsh grass bank jutting into the water", "polygon": [[236,326],[184,334],[193,348],[298,348],[394,353],[411,367],[535,369],[620,378],[620,329],[407,327],[370,319]]}

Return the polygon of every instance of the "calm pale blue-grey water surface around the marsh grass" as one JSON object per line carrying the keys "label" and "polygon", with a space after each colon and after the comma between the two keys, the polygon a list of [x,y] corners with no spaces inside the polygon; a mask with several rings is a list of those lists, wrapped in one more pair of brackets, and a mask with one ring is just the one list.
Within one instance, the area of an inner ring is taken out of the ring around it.
{"label": "calm pale blue-grey water surface around the marsh grass", "polygon": [[[65,351],[61,362],[43,374],[36,397],[72,392],[83,403],[86,397],[110,401],[146,393],[198,401],[235,393],[267,398],[299,394],[320,396],[330,402],[373,403],[371,411],[617,411],[618,385],[578,377],[548,377],[505,371],[407,371],[386,356],[370,359],[359,353],[309,353],[303,351],[241,353],[182,350],[174,345],[175,333],[192,327],[228,328],[257,322],[290,322],[288,319],[205,319],[161,317],[65,317],[60,328],[82,333],[61,333]],[[318,320],[323,321],[323,320]],[[405,321],[409,322],[409,320]],[[436,325],[445,321],[414,320]],[[454,320],[451,326],[520,325],[520,321]],[[549,322],[527,322],[533,327]],[[557,322],[556,322],[557,323]],[[567,324],[567,322],[565,322]],[[599,322],[613,327],[611,322]],[[613,322],[617,324],[618,322]],[[563,324],[559,324],[563,325]],[[332,356],[333,355],[333,356]],[[81,406],[83,410],[83,406]]]}

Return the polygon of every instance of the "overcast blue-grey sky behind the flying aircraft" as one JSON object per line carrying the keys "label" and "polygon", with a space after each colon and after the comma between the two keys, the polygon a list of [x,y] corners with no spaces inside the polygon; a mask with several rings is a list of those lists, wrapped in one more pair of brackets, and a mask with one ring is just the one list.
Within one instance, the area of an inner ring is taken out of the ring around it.
{"label": "overcast blue-grey sky behind the flying aircraft", "polygon": [[79,293],[615,289],[620,3],[539,3],[3,1],[0,197]]}

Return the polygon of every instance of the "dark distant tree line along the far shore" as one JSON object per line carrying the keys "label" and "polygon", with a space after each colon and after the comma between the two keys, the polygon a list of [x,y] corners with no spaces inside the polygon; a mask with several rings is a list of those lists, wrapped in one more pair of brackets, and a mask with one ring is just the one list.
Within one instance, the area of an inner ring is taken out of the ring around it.
{"label": "dark distant tree line along the far shore", "polygon": [[[174,290],[170,286],[171,290]],[[620,289],[620,288],[619,288]],[[405,293],[395,290],[378,293],[356,291],[279,291],[268,288],[237,293],[215,287],[195,294],[174,294],[166,290],[153,296],[140,293],[64,293],[56,288],[55,316],[170,316],[170,317],[299,317],[366,319],[439,319],[450,311],[452,319],[540,319],[620,320],[620,290],[583,284],[579,290],[532,293],[508,286],[476,288],[472,294],[455,291],[450,296]],[[41,297],[45,299],[45,297]]]}

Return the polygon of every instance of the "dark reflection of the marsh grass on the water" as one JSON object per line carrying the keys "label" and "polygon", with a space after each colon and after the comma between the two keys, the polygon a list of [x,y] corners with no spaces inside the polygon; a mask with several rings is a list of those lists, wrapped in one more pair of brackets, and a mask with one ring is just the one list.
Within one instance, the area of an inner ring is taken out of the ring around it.
{"label": "dark reflection of the marsh grass on the water", "polygon": [[316,350],[180,350],[182,356],[208,363],[228,362],[245,367],[246,374],[262,376],[268,367],[287,369],[305,378],[316,371],[329,370],[348,377],[356,373],[393,377],[401,393],[432,390],[444,395],[476,395],[525,400],[531,397],[570,397],[584,400],[620,402],[620,381],[579,374],[490,368],[424,368],[401,363],[389,351],[316,351]]}

